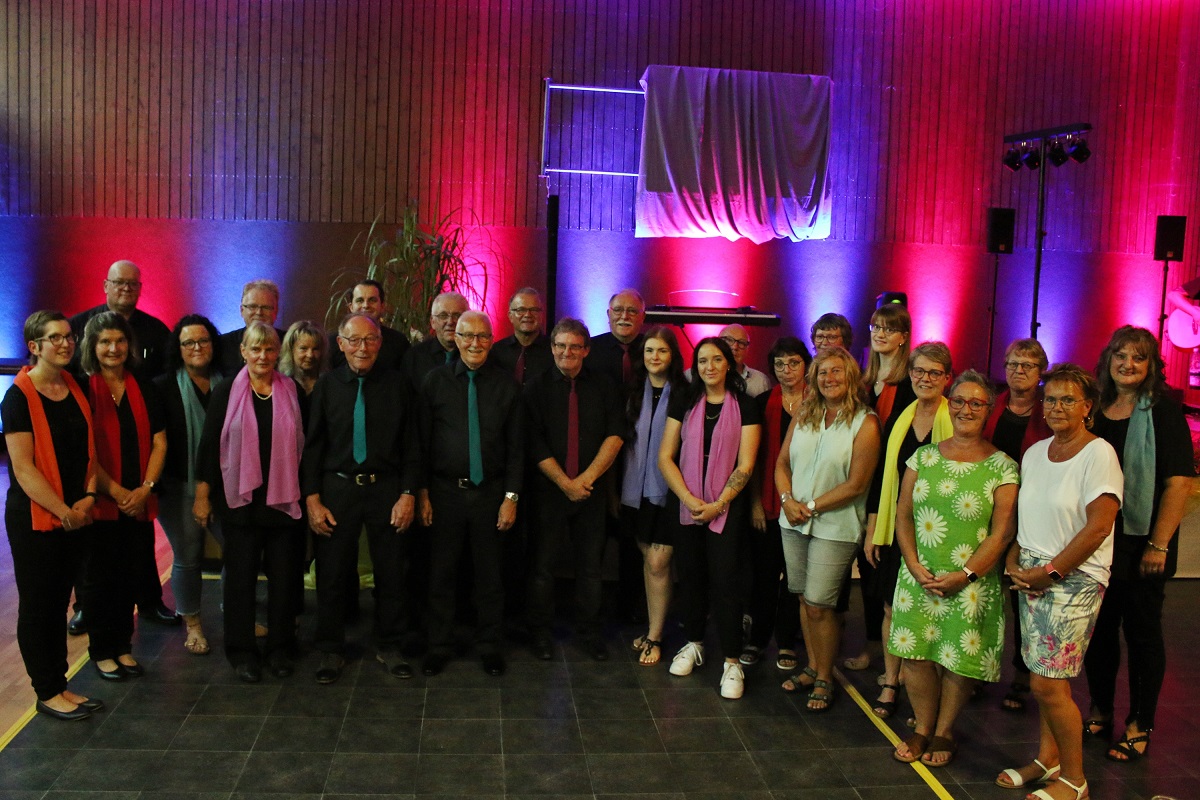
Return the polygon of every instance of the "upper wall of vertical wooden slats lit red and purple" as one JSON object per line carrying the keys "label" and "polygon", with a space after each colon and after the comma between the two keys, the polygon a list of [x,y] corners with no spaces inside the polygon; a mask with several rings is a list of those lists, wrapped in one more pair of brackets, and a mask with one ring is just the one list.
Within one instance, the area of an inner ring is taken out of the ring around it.
{"label": "upper wall of vertical wooden slats lit red and purple", "polygon": [[[1036,175],[1006,133],[1096,126],[1051,169],[1046,246],[1148,252],[1200,211],[1190,0],[72,0],[0,8],[0,213],[364,222],[469,210],[628,230],[632,179],[539,181],[541,80],[648,64],[828,74],[833,237],[978,245]],[[640,104],[557,109],[558,163],[636,163]],[[1196,222],[1200,222],[1198,219]],[[1189,248],[1189,253],[1192,248]]]}

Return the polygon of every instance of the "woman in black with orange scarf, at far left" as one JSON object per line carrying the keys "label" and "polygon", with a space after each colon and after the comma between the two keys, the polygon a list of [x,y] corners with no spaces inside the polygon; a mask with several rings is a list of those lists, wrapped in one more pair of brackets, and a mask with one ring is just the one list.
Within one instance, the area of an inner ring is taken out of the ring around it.
{"label": "woman in black with orange scarf, at far left", "polygon": [[31,366],[0,404],[8,447],[5,529],[17,582],[17,646],[37,694],[37,711],[83,720],[104,704],[67,688],[62,619],[72,578],[91,539],[96,500],[91,409],[66,367],[74,335],[56,311],[25,320]]}

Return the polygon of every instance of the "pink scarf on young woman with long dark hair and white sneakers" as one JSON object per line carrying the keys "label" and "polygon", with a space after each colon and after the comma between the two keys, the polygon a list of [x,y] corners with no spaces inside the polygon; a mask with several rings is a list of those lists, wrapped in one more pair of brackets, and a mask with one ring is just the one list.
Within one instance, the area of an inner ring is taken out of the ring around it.
{"label": "pink scarf on young woman with long dark hair and white sneakers", "polygon": [[[661,402],[661,401],[660,401]],[[733,392],[725,392],[721,414],[713,431],[712,450],[708,453],[708,475],[704,475],[704,398],[701,397],[683,417],[683,446],[679,451],[679,471],[688,491],[704,503],[715,503],[733,474],[742,449],[742,409]],[[708,523],[714,534],[725,530],[728,507]],[[679,504],[679,524],[695,525],[688,506]]]}

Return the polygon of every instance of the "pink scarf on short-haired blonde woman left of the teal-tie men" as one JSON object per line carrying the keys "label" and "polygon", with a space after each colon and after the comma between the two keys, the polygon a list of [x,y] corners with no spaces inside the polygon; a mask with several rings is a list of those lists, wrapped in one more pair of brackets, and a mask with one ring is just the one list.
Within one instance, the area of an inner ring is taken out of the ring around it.
{"label": "pink scarf on short-haired blonde woman left of the teal-tie men", "polygon": [[[233,379],[229,408],[221,426],[221,479],[230,509],[250,505],[254,489],[263,485],[258,419],[251,391],[250,371],[242,367]],[[266,483],[266,505],[299,519],[304,429],[295,384],[278,372],[272,373],[271,397],[271,471]],[[288,435],[292,432],[294,435]]]}

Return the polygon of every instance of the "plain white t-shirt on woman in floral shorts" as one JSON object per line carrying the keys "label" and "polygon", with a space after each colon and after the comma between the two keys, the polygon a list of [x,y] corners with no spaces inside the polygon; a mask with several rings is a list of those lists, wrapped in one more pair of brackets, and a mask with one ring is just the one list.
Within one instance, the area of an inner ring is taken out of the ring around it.
{"label": "plain white t-shirt on woman in floral shorts", "polygon": [[[1104,439],[1093,439],[1064,462],[1050,461],[1050,443],[1043,439],[1021,459],[1021,493],[1016,498],[1016,543],[1052,559],[1087,522],[1087,504],[1102,494],[1122,500],[1124,475],[1117,453]],[[1085,573],[1109,584],[1112,531],[1086,561]]]}

